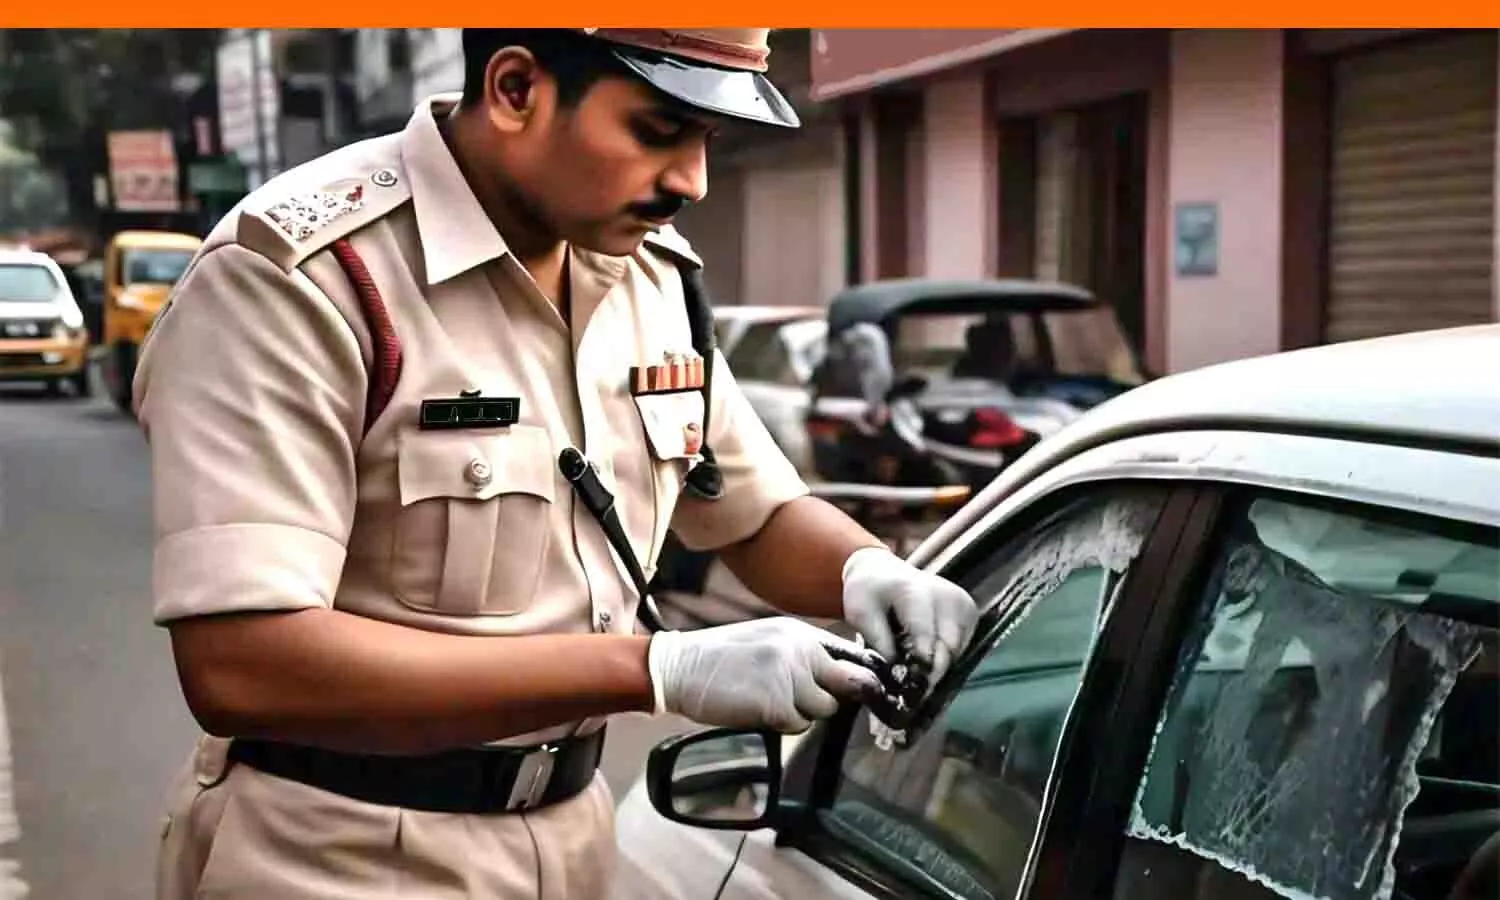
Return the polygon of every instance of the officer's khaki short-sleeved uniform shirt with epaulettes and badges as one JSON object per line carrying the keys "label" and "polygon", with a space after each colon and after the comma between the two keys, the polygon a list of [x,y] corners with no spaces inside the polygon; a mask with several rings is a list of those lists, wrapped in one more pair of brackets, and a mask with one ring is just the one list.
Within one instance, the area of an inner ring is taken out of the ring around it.
{"label": "officer's khaki short-sleeved uniform shirt with epaulettes and badges", "polygon": [[[633,398],[627,376],[690,348],[678,264],[702,262],[672,230],[626,258],[573,248],[564,321],[438,130],[456,99],[250,194],[153,327],[135,404],[152,446],[158,622],[326,606],[468,634],[630,633],[636,591],[558,472],[564,447],[598,466],[648,578],[669,526],[720,548],[806,494],[722,357],[708,442],[724,495],[684,494],[694,460],[670,435],[700,424],[700,394]],[[340,237],[404,352],[368,434],[374,356],[328,252]],[[423,399],[464,390],[519,398],[519,423],[418,430]]]}

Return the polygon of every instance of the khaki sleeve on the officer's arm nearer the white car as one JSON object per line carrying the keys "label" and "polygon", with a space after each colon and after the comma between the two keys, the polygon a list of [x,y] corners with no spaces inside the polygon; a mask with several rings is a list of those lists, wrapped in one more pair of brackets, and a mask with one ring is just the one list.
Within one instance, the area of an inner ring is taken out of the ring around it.
{"label": "khaki sleeve on the officer's arm nearer the white car", "polygon": [[740,390],[723,354],[714,356],[712,414],[708,446],[723,474],[718,500],[684,492],[672,516],[672,530],[692,550],[717,550],[753,537],[783,502],[807,494],[771,432]]}

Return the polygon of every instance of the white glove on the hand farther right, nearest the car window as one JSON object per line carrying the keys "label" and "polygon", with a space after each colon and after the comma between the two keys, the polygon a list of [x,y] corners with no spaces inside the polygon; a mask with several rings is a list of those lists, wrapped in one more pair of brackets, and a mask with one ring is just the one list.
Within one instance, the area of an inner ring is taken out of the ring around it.
{"label": "white glove on the hand farther right, nearest the car window", "polygon": [[912,654],[930,666],[936,684],[969,644],[980,610],[969,592],[922,572],[886,548],[861,548],[843,567],[844,621],[886,660],[897,657],[894,616]]}

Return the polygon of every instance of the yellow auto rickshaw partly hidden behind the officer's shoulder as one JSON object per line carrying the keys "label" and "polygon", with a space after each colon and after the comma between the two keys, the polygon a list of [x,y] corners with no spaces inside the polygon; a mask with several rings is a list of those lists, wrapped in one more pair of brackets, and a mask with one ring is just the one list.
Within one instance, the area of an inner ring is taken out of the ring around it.
{"label": "yellow auto rickshaw partly hidden behind the officer's shoulder", "polygon": [[177,231],[120,231],[104,254],[102,369],[110,398],[130,412],[141,342],[202,240]]}

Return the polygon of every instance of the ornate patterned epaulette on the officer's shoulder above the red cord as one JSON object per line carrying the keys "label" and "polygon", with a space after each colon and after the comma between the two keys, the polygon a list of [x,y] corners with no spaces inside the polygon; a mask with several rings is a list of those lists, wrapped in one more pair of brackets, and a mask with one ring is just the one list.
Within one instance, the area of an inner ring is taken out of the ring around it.
{"label": "ornate patterned epaulette on the officer's shoulder above the red cord", "polygon": [[380,219],[411,196],[393,168],[339,178],[316,190],[272,190],[250,196],[236,226],[236,240],[291,272],[308,256]]}

